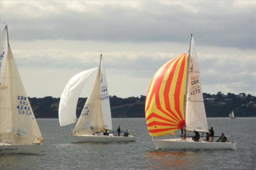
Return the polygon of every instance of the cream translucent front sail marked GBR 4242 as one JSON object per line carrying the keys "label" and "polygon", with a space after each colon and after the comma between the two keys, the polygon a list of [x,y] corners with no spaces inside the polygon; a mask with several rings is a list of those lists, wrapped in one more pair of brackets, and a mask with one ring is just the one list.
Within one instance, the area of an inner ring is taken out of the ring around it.
{"label": "cream translucent front sail marked GBR 4242", "polygon": [[42,143],[28,96],[10,46],[0,89],[0,141],[15,144]]}

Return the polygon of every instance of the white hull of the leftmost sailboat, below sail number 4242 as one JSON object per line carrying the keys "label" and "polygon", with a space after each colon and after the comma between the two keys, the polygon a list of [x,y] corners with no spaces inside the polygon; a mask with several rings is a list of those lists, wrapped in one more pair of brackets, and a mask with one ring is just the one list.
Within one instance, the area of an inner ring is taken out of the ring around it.
{"label": "white hull of the leftmost sailboat, below sail number 4242", "polygon": [[39,154],[42,152],[45,144],[10,144],[0,143],[1,153],[23,153],[23,154]]}

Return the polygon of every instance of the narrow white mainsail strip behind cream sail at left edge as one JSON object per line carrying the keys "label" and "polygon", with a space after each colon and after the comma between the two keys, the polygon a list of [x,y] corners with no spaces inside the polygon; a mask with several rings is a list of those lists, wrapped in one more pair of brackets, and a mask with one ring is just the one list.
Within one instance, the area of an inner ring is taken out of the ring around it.
{"label": "narrow white mainsail strip behind cream sail at left edge", "polygon": [[4,30],[1,34],[0,42],[0,83],[2,83],[2,77],[4,73],[4,65],[6,61],[7,51],[8,51],[8,41],[7,41],[7,26],[4,26]]}

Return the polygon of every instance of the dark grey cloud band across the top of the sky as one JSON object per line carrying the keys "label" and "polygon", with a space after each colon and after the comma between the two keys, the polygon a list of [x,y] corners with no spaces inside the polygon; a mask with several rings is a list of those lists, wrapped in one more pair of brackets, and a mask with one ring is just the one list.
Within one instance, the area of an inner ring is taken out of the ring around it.
{"label": "dark grey cloud band across the top of the sky", "polygon": [[[7,6],[1,2],[1,21],[10,25],[14,39],[185,43],[195,29],[204,45],[255,49],[255,1],[245,1],[252,5],[242,7],[236,1],[142,1],[138,8],[81,3],[84,11],[56,1],[37,3]],[[31,10],[31,16],[19,15],[25,10]]]}

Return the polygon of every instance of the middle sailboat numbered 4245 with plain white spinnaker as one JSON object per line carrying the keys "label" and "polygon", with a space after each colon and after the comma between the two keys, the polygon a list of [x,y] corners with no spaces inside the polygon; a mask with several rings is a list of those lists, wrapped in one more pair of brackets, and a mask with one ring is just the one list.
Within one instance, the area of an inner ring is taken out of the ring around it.
{"label": "middle sailboat numbered 4245 with plain white spinnaker", "polygon": [[[60,97],[60,126],[77,122],[72,133],[72,137],[76,142],[134,141],[136,139],[134,135],[129,135],[128,137],[117,136],[113,131],[108,85],[102,58],[101,54],[100,67],[80,72],[68,81]],[[76,121],[76,105],[79,95],[86,81],[94,72],[97,72],[97,76],[80,117]],[[112,133],[106,133],[111,130]]]}

